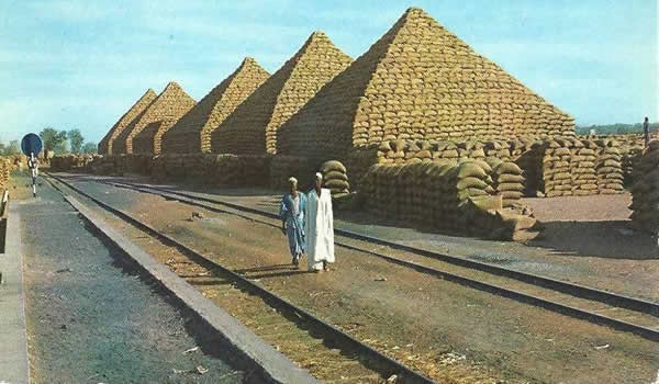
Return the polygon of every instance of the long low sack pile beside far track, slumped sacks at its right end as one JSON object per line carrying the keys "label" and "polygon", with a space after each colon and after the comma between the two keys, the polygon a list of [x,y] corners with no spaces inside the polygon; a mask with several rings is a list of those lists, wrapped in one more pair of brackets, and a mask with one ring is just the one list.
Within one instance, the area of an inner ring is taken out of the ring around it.
{"label": "long low sack pile beside far track, slumped sacks at its right end", "polygon": [[375,214],[413,225],[496,239],[537,236],[535,218],[503,207],[492,172],[482,160],[375,165],[359,194]]}

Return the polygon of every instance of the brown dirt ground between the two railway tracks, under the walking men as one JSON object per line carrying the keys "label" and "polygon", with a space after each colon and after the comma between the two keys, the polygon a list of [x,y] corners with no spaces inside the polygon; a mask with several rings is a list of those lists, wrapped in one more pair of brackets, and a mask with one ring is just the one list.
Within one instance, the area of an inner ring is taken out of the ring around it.
{"label": "brown dirt ground between the two railway tracks, under the walking men", "polygon": [[[446,382],[650,383],[657,343],[339,250],[334,271],[291,270],[275,228],[150,194],[79,187]],[[192,221],[192,211],[204,219]],[[606,348],[595,348],[606,346]],[[451,360],[453,359],[453,360]],[[446,364],[450,361],[450,364]],[[485,372],[487,374],[482,374]]]}

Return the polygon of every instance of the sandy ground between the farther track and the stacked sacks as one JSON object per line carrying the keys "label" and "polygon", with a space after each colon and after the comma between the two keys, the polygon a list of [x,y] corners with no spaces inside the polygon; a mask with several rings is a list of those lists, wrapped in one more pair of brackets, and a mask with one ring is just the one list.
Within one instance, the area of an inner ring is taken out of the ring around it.
{"label": "sandy ground between the farther track and the stacked sacks", "polygon": [[[144,178],[131,180],[148,182]],[[266,189],[168,187],[268,212],[278,212],[281,195]],[[335,227],[659,302],[659,247],[651,236],[630,228],[629,194],[523,202],[545,227],[543,238],[528,244],[431,233],[365,212],[336,212]]]}

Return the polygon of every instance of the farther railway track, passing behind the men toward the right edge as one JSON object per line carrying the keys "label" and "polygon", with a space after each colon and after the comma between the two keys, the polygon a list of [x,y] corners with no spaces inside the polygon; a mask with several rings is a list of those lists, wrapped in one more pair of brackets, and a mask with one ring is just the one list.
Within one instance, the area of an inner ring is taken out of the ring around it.
{"label": "farther railway track, passing behind the men toward the right edge", "polygon": [[[278,217],[261,210],[161,188],[126,182],[100,182],[116,188],[160,195],[209,211],[230,213],[264,225],[279,227]],[[223,208],[219,206],[223,206]],[[255,215],[261,218],[255,218]],[[634,332],[648,340],[659,341],[659,304],[657,303],[520,272],[500,266],[432,252],[344,229],[335,228],[335,242],[339,247],[365,252],[422,273],[533,304],[563,315],[605,325],[617,330]],[[381,248],[373,250],[373,245]]]}

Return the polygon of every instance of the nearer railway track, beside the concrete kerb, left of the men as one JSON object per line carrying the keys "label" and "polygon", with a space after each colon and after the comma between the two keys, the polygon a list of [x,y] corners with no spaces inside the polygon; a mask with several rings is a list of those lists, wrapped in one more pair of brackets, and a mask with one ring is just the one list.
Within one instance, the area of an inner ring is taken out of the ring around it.
{"label": "nearer railway track, beside the concrete kerb, left of the men", "polygon": [[[146,235],[136,236],[134,240],[138,245],[148,244],[152,249],[156,247],[154,256],[174,272],[323,382],[434,383],[432,379],[384,355],[196,249],[133,218],[129,213],[110,206],[57,177],[49,176],[46,180],[60,193],[71,191],[75,195],[82,196],[82,201],[92,202]],[[157,239],[156,244],[154,239]]]}

